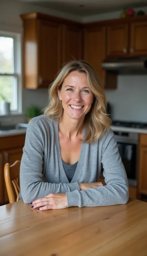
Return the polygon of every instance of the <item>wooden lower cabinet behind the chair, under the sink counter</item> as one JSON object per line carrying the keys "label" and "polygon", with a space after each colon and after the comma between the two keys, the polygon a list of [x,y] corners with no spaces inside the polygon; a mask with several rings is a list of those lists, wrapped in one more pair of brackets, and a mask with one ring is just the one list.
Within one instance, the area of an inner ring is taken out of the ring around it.
{"label": "wooden lower cabinet behind the chair, under the sink counter", "polygon": [[0,205],[9,202],[4,181],[4,165],[21,160],[25,135],[0,137]]}

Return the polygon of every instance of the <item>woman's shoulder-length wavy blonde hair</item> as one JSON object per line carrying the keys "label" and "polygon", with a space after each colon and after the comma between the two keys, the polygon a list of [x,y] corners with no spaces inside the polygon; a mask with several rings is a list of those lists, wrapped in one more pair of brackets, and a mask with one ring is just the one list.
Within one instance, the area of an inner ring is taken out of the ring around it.
{"label": "woman's shoulder-length wavy blonde hair", "polygon": [[65,63],[56,76],[55,81],[49,88],[50,103],[45,108],[44,114],[53,120],[61,120],[63,116],[62,102],[57,93],[57,87],[61,90],[64,79],[72,71],[83,72],[87,75],[89,88],[94,94],[94,101],[91,105],[90,111],[85,115],[84,124],[86,134],[83,141],[92,143],[98,140],[103,135],[105,130],[110,129],[110,118],[106,114],[106,98],[105,93],[100,84],[100,78],[93,67],[85,61],[70,61]]}

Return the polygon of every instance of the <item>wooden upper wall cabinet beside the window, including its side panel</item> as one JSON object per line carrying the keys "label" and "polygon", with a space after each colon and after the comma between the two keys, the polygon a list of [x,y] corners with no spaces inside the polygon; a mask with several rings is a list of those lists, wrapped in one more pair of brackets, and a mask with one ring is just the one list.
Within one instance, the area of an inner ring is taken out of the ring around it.
{"label": "wooden upper wall cabinet beside the window, including its side panel", "polygon": [[[62,64],[82,57],[80,24],[46,14],[21,15],[24,23],[24,87],[49,87]],[[64,23],[65,22],[65,23]],[[71,24],[70,24],[71,23]]]}

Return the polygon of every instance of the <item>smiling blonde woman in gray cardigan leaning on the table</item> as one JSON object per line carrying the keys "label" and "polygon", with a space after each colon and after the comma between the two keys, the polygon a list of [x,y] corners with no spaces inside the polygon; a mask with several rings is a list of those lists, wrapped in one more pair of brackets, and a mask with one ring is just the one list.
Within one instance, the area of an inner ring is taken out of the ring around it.
{"label": "smiling blonde woman in gray cardigan leaning on the table", "polygon": [[[24,203],[37,210],[126,204],[128,182],[96,71],[63,66],[45,115],[28,125],[20,168]],[[104,168],[106,186],[97,183]]]}

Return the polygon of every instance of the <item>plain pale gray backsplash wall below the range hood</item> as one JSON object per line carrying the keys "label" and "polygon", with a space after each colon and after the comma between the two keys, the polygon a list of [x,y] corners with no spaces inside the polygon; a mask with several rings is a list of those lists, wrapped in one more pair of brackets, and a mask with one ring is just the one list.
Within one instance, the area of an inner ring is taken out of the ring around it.
{"label": "plain pale gray backsplash wall below the range hood", "polygon": [[147,75],[119,75],[118,88],[105,90],[112,119],[147,122]]}

